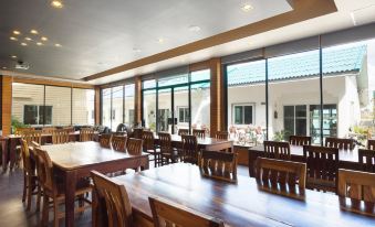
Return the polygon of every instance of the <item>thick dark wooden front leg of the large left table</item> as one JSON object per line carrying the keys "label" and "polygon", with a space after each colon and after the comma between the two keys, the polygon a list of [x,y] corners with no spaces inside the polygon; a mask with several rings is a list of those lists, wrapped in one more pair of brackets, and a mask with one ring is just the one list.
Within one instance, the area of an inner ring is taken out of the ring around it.
{"label": "thick dark wooden front leg of the large left table", "polygon": [[74,194],[76,187],[76,171],[65,172],[65,226],[74,226]]}

